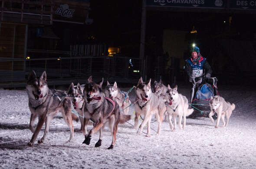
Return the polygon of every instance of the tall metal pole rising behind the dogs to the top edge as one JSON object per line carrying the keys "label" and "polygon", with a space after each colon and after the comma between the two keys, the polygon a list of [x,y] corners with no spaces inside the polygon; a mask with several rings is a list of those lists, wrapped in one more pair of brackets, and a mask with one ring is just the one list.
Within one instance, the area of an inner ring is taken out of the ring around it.
{"label": "tall metal pole rising behind the dogs to the top edge", "polygon": [[145,49],[145,29],[146,29],[146,0],[142,0],[141,10],[141,43],[140,43],[140,60],[141,60],[141,72],[144,78],[144,49]]}

